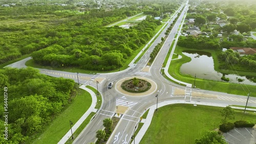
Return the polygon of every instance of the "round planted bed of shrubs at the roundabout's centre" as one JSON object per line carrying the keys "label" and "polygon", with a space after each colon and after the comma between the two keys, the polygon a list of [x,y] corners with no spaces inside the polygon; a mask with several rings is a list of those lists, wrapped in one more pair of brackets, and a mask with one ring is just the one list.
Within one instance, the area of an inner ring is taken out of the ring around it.
{"label": "round planted bed of shrubs at the roundabout's centre", "polygon": [[123,81],[121,84],[121,88],[123,90],[128,92],[134,92],[134,93],[145,92],[151,89],[151,86],[152,85],[150,82],[142,79],[137,79],[137,78]]}

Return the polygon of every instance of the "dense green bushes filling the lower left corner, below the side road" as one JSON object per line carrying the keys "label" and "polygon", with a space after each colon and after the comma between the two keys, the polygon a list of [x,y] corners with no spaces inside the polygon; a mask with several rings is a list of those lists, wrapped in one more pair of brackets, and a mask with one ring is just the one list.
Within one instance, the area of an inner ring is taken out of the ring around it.
{"label": "dense green bushes filling the lower left corner, below the side road", "polygon": [[[5,86],[9,95],[9,143],[24,143],[29,136],[42,131],[53,116],[72,101],[77,88],[71,79],[48,77],[31,67],[0,69],[0,87]],[[4,104],[4,99],[0,102]],[[1,111],[3,129],[4,107]],[[6,143],[3,136],[0,143]]]}

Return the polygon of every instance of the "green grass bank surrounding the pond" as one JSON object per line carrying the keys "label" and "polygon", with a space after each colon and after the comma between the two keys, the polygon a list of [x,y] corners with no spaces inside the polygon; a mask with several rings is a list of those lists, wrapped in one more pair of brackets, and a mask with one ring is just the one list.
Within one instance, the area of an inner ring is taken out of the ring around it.
{"label": "green grass bank surrounding the pond", "polygon": [[[176,46],[175,53],[182,56],[182,59],[174,60],[170,63],[170,67],[168,69],[168,73],[173,76],[175,79],[178,79],[180,81],[193,84],[194,83],[194,76],[185,75],[180,73],[180,67],[183,63],[189,62],[191,59],[185,55],[182,54],[182,51],[184,50],[194,50],[194,49],[188,49],[180,46]],[[196,50],[198,51],[198,50]],[[214,64],[215,69],[218,71],[218,64],[219,61],[217,58],[217,54],[213,50],[203,50],[204,52],[211,53],[212,57],[214,58]],[[246,72],[244,72],[246,73]],[[255,76],[255,74],[254,74]],[[239,94],[239,95],[247,95],[247,88],[245,86],[240,84],[234,84],[234,83],[226,83],[226,82],[220,82],[220,81],[212,81],[212,80],[205,80],[205,79],[197,79],[196,80],[196,86],[200,89],[205,90],[212,90],[212,91],[220,91],[220,92],[227,92],[231,94]],[[251,91],[251,97],[256,97],[256,89],[255,86],[252,85],[246,85],[248,89]],[[244,89],[247,91],[245,92]]]}

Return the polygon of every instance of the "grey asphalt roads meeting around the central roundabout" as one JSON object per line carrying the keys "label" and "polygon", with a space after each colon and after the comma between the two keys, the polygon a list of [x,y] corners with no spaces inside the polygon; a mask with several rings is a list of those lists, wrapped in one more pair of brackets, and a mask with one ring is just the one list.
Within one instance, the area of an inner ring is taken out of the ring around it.
{"label": "grey asphalt roads meeting around the central roundabout", "polygon": [[[184,8],[184,10],[182,10]],[[169,45],[173,42],[173,39],[178,32],[180,23],[184,22],[183,16],[186,14],[188,9],[187,4],[181,6],[179,10],[173,15],[172,19],[166,22],[167,27],[165,27],[162,31],[159,31],[159,36],[153,38],[153,44],[147,50],[138,63],[134,64],[133,62],[137,59],[137,57],[131,62],[130,67],[115,73],[109,74],[80,74],[77,73],[69,73],[65,71],[58,70],[49,70],[49,69],[40,69],[40,73],[46,74],[52,77],[63,77],[68,79],[73,79],[74,81],[82,83],[83,85],[91,85],[96,87],[96,81],[99,81],[98,89],[102,95],[102,106],[99,110],[97,110],[97,114],[94,116],[92,121],[88,124],[88,126],[80,133],[80,135],[75,139],[73,143],[90,143],[95,142],[96,139],[96,131],[99,129],[104,129],[103,127],[103,119],[111,118],[113,116],[118,116],[116,113],[117,106],[126,106],[127,110],[120,114],[120,121],[113,131],[110,139],[107,143],[129,143],[131,141],[131,137],[135,131],[135,127],[138,125],[140,121],[141,115],[145,112],[145,109],[150,107],[154,107],[156,104],[156,94],[158,94],[158,102],[159,104],[164,104],[166,101],[175,101],[182,103],[191,103],[195,102],[197,104],[210,103],[212,105],[245,105],[246,97],[240,95],[227,94],[222,92],[208,91],[208,90],[200,90],[191,88],[191,84],[186,84],[187,87],[172,83],[167,81],[160,73],[161,65],[169,51]],[[182,10],[182,11],[181,11]],[[161,42],[161,37],[165,36],[165,31],[173,22],[174,18],[177,16],[177,13],[180,12],[180,17],[177,22],[173,26],[172,31],[168,35],[165,43],[163,44],[159,54],[156,56],[155,61],[150,67],[147,67],[147,61],[150,59],[150,52],[153,51],[154,47]],[[150,42],[151,42],[150,41]],[[177,43],[177,42],[176,42]],[[176,44],[175,44],[176,45]],[[174,45],[174,46],[175,46]],[[145,46],[146,47],[146,46]],[[144,49],[145,50],[145,49]],[[174,49],[173,49],[174,51]],[[172,58],[173,51],[171,52],[170,58]],[[26,67],[25,62],[31,58],[24,59],[22,61],[13,63],[9,66],[12,67]],[[169,64],[166,64],[165,74],[168,69]],[[147,67],[147,70],[143,70]],[[77,79],[78,76],[78,79]],[[122,94],[118,92],[117,82],[123,78],[127,77],[144,77],[154,81],[157,85],[157,88],[151,92],[150,94],[146,94],[143,97],[134,97],[129,94]],[[108,89],[108,84],[113,82],[113,88]],[[181,91],[184,94],[175,94],[177,92],[177,88],[182,89]],[[197,93],[197,95],[194,95]],[[198,94],[201,93],[201,94]],[[208,96],[207,96],[208,95]],[[211,97],[210,95],[215,95],[215,97]],[[250,98],[248,101],[248,106],[255,106],[256,99]],[[153,108],[154,109],[154,108]],[[71,136],[71,133],[68,132],[67,138]],[[62,142],[59,142],[62,143]],[[139,143],[139,140],[136,141]]]}

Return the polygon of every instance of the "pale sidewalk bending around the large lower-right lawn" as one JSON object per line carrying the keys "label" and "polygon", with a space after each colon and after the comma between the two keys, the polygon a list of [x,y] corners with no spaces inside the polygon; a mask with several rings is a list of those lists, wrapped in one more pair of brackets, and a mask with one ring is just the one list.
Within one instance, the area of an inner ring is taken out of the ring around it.
{"label": "pale sidewalk bending around the large lower-right lawn", "polygon": [[[164,102],[158,103],[157,108],[160,108],[160,107],[163,107],[166,105],[171,105],[171,104],[194,104],[194,105],[205,105],[205,106],[215,106],[215,107],[228,106],[227,104],[204,103],[204,102],[197,102],[197,101],[185,102],[184,100],[170,100],[170,101],[164,101]],[[242,107],[232,107],[232,108],[244,109]],[[144,134],[146,133],[146,130],[148,129],[148,127],[150,127],[154,112],[156,110],[156,105],[151,106],[149,109],[150,110],[148,111],[147,117],[144,120],[144,125],[142,126],[142,128],[140,129],[140,131],[138,132],[138,134],[135,137],[135,143],[137,143],[137,144],[141,141],[141,139],[144,136]],[[247,110],[256,111],[256,109],[250,109],[250,108],[247,108]],[[132,143],[134,143],[134,141],[132,141]]]}

